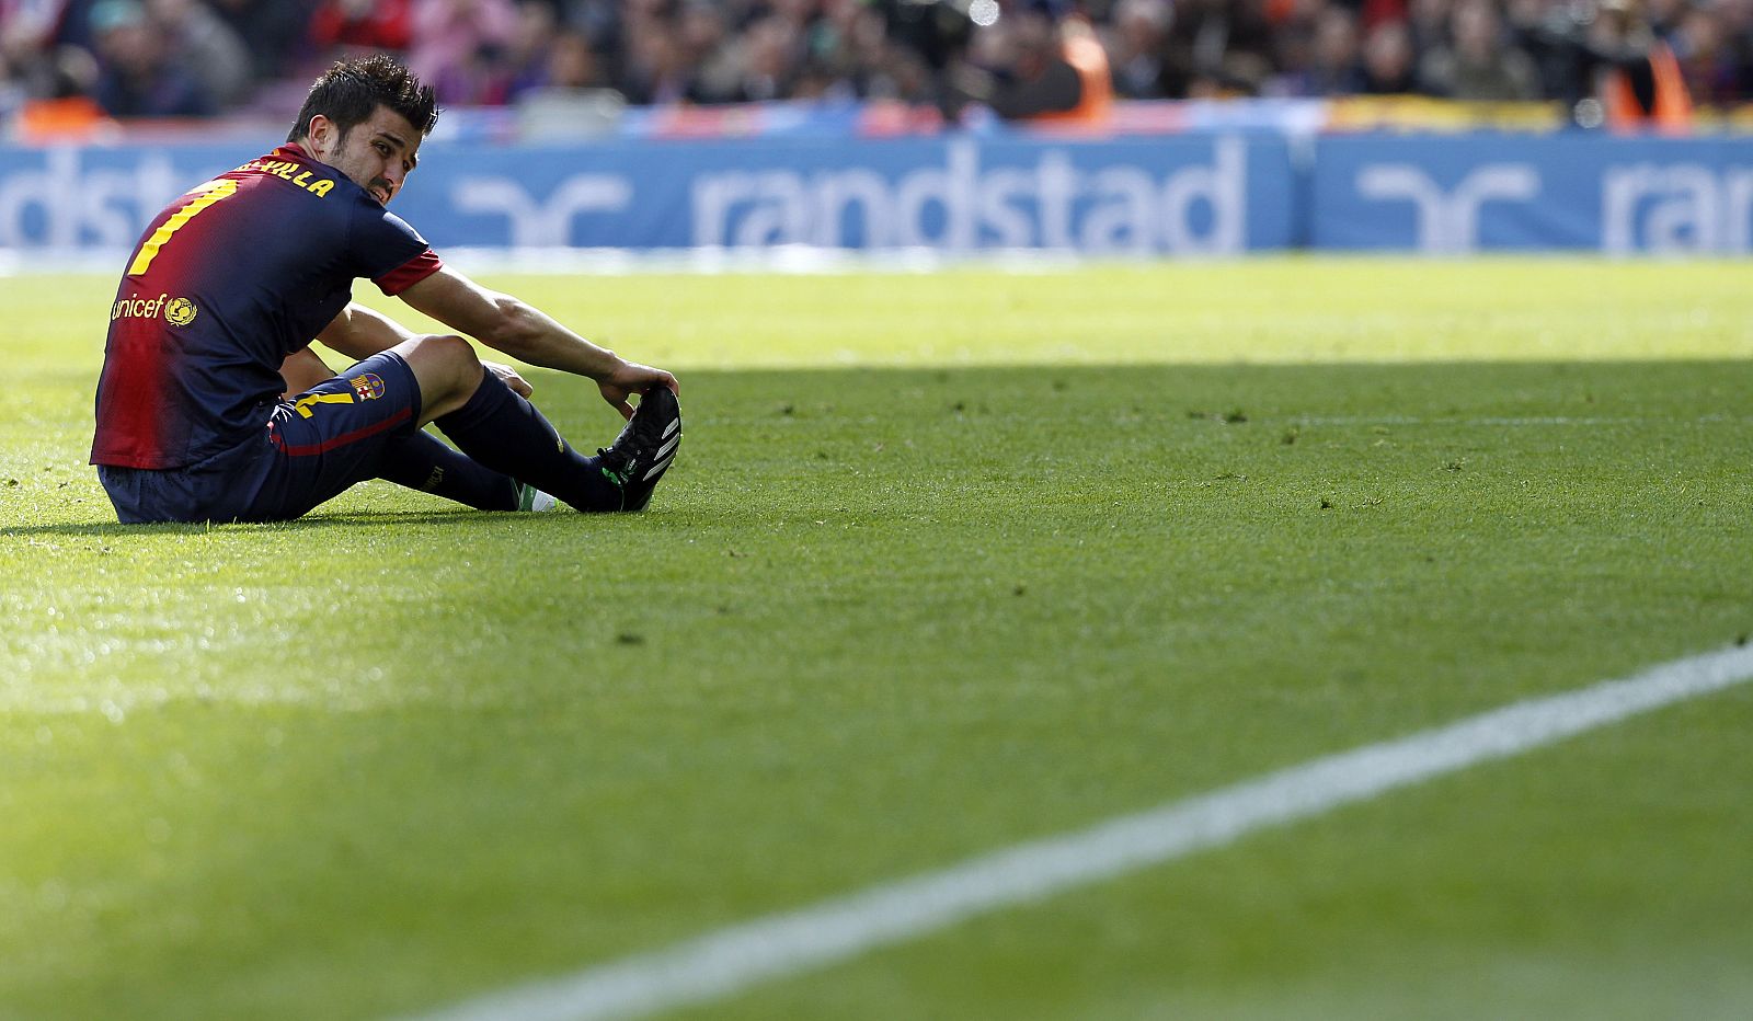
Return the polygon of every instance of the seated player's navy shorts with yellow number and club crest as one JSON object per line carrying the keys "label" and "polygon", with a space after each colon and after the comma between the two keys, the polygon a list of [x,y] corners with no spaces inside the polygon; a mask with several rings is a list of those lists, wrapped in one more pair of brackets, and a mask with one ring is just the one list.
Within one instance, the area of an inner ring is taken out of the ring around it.
{"label": "seated player's navy shorts with yellow number and club crest", "polygon": [[384,351],[282,402],[261,435],[184,468],[98,465],[116,516],[145,521],[287,521],[373,479],[419,430],[421,384]]}

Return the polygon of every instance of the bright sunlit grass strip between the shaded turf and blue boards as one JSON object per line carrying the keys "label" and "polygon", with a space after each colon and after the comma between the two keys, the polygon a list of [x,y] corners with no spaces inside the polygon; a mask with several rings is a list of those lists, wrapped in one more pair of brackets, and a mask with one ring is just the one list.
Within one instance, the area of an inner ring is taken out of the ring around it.
{"label": "bright sunlit grass strip between the shaded turf and blue boards", "polygon": [[[1753,289],[1744,263],[1728,260],[1262,258],[1029,275],[968,265],[929,275],[482,279],[629,358],[678,372],[1753,354]],[[63,379],[88,400],[114,293],[114,275],[0,275],[0,303],[23,309],[0,340],[9,368],[28,377],[77,365],[82,372]],[[440,330],[375,288],[356,298],[412,328]]]}

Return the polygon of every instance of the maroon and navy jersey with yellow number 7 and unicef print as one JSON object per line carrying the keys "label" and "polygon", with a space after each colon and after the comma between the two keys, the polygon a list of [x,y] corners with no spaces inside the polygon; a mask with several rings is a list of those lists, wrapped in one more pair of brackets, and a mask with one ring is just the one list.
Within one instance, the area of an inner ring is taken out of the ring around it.
{"label": "maroon and navy jersey with yellow number 7 and unicef print", "polygon": [[182,468],[259,439],[280,363],[366,277],[398,295],[440,268],[426,240],[295,144],[172,202],[110,305],[91,463]]}

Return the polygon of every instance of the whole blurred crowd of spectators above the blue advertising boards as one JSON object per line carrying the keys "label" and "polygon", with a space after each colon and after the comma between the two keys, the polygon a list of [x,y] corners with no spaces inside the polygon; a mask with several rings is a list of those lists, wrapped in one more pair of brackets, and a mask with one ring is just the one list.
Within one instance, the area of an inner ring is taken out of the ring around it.
{"label": "whole blurred crowd of spectators above the blue advertising boards", "polygon": [[279,112],[363,49],[452,107],[1429,95],[1586,121],[1753,96],[1753,0],[0,0],[0,89],[116,118]]}

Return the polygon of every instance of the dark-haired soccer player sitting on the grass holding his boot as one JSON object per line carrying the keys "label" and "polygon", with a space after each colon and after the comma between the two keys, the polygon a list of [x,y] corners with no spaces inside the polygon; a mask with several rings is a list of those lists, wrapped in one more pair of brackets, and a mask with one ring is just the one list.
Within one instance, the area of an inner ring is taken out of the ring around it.
{"label": "dark-haired soccer player sitting on the grass holding his boot", "polygon": [[[286,146],[153,219],[110,307],[96,393],[91,463],[121,521],[280,521],[372,477],[482,509],[547,493],[645,509],[682,439],[675,377],[475,284],[384,209],[436,116],[433,89],[394,60],[340,61]],[[356,277],[456,333],[415,337],[354,305]],[[596,381],[626,428],[578,454],[465,335]],[[358,365],[330,375],[312,339]]]}

